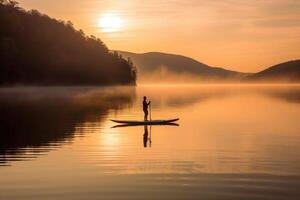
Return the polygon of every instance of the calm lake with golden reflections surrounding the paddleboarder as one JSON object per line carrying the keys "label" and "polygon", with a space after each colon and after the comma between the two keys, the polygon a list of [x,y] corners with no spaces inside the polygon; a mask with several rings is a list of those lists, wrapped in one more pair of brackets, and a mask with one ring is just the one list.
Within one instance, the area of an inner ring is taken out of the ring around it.
{"label": "calm lake with golden reflections surrounding the paddleboarder", "polygon": [[[110,119],[179,117],[112,128]],[[300,86],[0,89],[0,199],[300,199]]]}

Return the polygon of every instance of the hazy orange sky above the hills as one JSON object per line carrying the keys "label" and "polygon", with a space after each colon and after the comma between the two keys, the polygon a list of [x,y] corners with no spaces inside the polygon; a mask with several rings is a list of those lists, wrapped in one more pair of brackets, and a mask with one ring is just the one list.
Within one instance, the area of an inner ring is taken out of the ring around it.
{"label": "hazy orange sky above the hills", "polygon": [[110,49],[181,54],[244,72],[300,58],[300,0],[19,2],[72,21]]}

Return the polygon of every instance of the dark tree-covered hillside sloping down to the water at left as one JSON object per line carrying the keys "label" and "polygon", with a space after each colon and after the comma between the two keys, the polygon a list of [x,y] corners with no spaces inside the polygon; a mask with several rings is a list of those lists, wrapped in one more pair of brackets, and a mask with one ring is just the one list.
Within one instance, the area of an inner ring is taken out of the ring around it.
{"label": "dark tree-covered hillside sloping down to the water at left", "polygon": [[0,0],[0,85],[135,84],[130,60],[64,22]]}

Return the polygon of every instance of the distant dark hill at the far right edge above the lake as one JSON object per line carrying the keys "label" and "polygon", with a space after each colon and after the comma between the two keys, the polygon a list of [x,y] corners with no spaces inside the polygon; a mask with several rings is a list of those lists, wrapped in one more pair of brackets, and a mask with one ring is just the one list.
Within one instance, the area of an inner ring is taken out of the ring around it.
{"label": "distant dark hill at the far right edge above the lake", "polygon": [[250,82],[300,83],[300,60],[274,65],[245,78]]}

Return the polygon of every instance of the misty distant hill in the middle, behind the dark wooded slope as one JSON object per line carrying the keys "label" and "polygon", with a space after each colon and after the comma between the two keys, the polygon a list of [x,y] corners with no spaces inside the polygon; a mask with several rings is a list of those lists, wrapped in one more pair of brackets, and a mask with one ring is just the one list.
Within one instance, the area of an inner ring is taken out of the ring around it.
{"label": "misty distant hill in the middle, behind the dark wooded slope", "polygon": [[138,80],[141,82],[237,82],[246,73],[211,67],[192,58],[150,52],[143,54],[118,51],[123,57],[132,59],[137,67]]}

